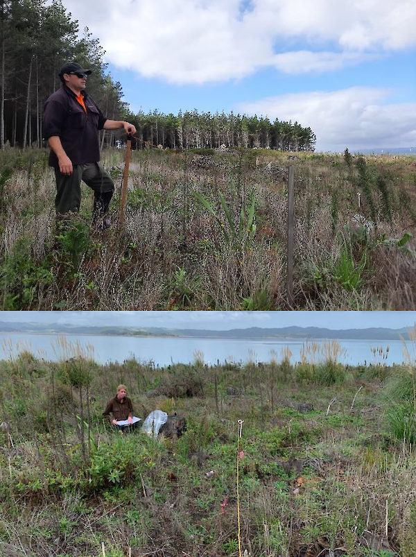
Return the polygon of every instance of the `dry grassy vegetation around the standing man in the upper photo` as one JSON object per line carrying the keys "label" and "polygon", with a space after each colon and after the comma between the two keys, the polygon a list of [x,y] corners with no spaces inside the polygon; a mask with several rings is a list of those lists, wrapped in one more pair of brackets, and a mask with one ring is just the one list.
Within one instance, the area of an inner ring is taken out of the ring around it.
{"label": "dry grassy vegetation around the standing man in the upper photo", "polygon": [[42,149],[0,153],[1,309],[287,309],[288,166],[295,169],[293,308],[414,309],[416,162],[390,155],[104,149],[113,227],[91,192],[57,228]]}

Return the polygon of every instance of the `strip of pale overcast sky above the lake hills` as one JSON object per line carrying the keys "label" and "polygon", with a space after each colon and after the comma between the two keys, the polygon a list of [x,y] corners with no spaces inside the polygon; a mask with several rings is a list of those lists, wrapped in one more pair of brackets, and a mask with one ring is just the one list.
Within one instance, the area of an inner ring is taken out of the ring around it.
{"label": "strip of pale overcast sky above the lake hills", "polygon": [[413,327],[416,311],[1,311],[0,321],[188,329]]}

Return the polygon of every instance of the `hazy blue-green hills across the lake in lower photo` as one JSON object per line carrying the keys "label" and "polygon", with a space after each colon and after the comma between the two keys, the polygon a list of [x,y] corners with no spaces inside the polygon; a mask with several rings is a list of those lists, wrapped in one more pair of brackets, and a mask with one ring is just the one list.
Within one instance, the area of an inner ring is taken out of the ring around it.
{"label": "hazy blue-green hills across the lake in lower photo", "polygon": [[279,327],[264,329],[249,327],[212,331],[208,329],[167,329],[163,327],[94,327],[87,325],[62,325],[58,323],[15,323],[0,321],[0,332],[35,334],[87,334],[93,336],[177,336],[194,339],[362,339],[371,341],[398,341],[409,339],[406,327],[388,329],[372,327],[367,329],[326,329],[324,327]]}

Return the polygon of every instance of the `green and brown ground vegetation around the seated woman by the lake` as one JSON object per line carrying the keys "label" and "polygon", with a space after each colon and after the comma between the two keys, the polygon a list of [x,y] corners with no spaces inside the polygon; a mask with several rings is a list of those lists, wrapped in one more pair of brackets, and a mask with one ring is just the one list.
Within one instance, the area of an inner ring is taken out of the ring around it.
{"label": "green and brown ground vegetation around the seated woman by the lake", "polygon": [[[415,555],[410,359],[387,366],[376,348],[344,366],[333,341],[296,366],[286,349],[155,368],[60,347],[57,362],[0,362],[2,555]],[[140,417],[185,418],[182,435],[113,431],[101,413],[120,382]]]}

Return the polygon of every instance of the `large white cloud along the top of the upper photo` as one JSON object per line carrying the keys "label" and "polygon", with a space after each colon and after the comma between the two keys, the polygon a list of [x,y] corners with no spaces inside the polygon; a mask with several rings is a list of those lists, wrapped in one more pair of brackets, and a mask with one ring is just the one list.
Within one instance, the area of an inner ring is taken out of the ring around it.
{"label": "large white cloud along the top of the upper photo", "polygon": [[[416,44],[414,0],[66,0],[107,60],[171,83],[327,71]],[[243,10],[243,11],[242,11]],[[293,44],[302,42],[295,52]]]}

